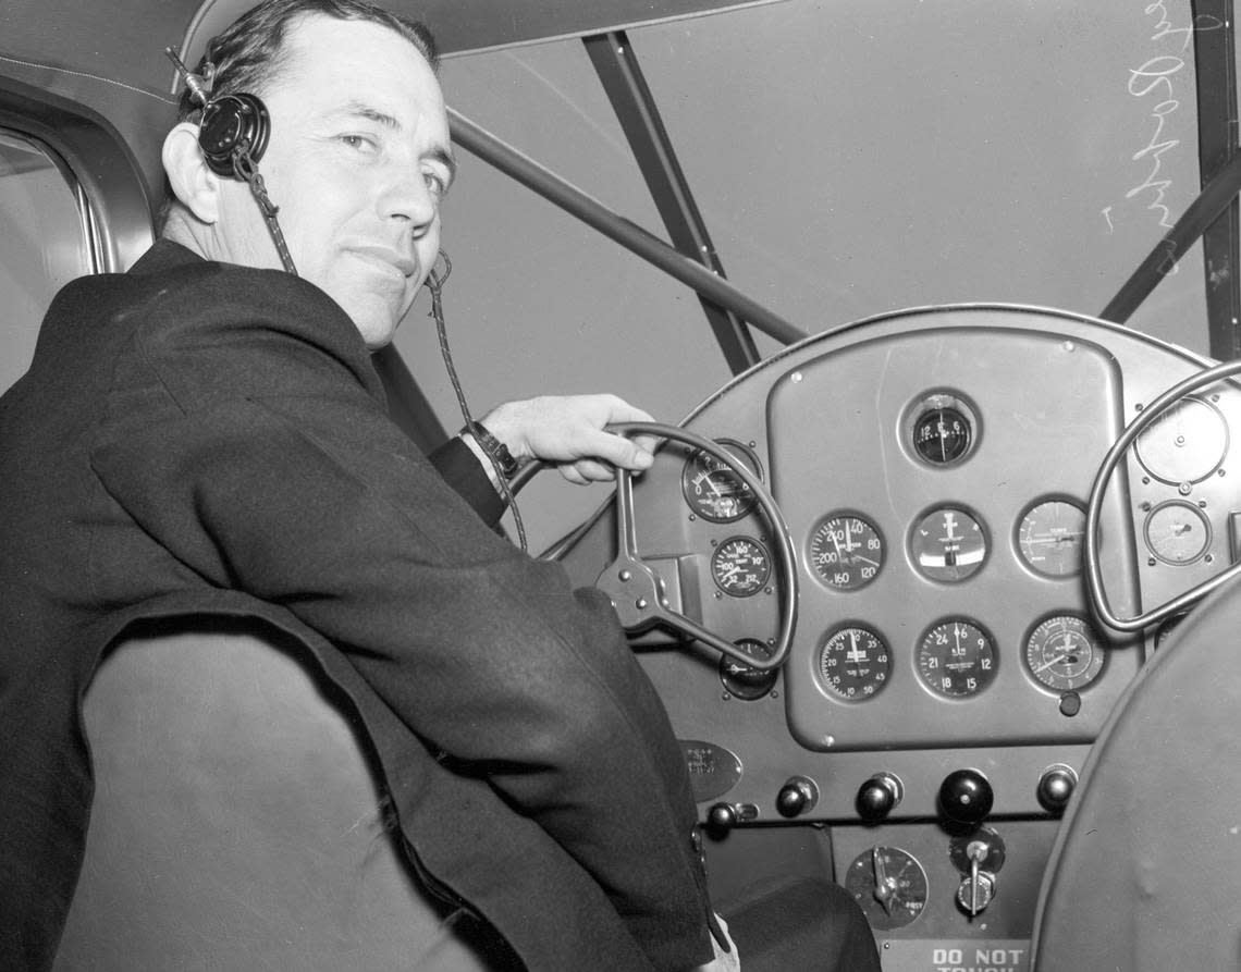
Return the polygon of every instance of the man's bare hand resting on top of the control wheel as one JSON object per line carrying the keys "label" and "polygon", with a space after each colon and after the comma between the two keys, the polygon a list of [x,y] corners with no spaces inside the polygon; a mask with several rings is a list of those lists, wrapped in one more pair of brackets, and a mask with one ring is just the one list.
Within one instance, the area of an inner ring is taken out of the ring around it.
{"label": "man's bare hand resting on top of the control wheel", "polygon": [[616,478],[616,467],[640,472],[653,461],[655,439],[604,432],[612,422],[652,417],[616,395],[566,395],[505,402],[483,425],[517,459],[553,463],[568,482],[586,485]]}

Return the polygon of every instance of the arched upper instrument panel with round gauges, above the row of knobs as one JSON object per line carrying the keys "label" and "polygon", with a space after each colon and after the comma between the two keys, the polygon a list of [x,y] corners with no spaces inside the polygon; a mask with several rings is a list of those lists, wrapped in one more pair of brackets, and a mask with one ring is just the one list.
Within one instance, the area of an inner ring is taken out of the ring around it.
{"label": "arched upper instrument panel with round gauges, above the row of knobs", "polygon": [[[1204,364],[1078,315],[930,308],[812,338],[726,386],[686,427],[771,488],[800,597],[779,679],[735,693],[740,664],[721,665],[710,706],[692,706],[694,737],[726,740],[730,703],[766,703],[793,752],[1088,744],[1157,639],[1092,618],[1087,497],[1142,403]],[[1113,477],[1101,557],[1119,611],[1231,562],[1239,415],[1232,385],[1190,397]],[[747,650],[769,647],[773,545],[748,487],[669,443],[634,506],[676,608]],[[565,562],[592,582],[609,544],[596,524]],[[678,680],[706,682],[707,655],[685,655]],[[675,720],[686,690],[669,695]]]}

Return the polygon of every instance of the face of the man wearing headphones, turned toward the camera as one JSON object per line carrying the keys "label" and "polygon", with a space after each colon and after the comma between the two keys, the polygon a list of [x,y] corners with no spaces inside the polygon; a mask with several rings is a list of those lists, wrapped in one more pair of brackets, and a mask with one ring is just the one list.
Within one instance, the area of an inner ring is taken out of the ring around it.
{"label": "face of the man wearing headphones, turned toward the camera", "polygon": [[[272,137],[258,169],[298,274],[381,348],[439,250],[453,176],[443,94],[417,48],[377,24],[311,15],[285,45],[261,93]],[[249,189],[230,180],[222,192],[226,258],[280,267]]]}

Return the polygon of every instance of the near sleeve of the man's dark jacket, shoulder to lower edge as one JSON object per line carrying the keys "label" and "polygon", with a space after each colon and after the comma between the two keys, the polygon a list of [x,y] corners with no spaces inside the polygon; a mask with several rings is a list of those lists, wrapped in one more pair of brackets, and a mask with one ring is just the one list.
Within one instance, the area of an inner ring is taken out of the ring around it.
{"label": "near sleeve of the man's dark jacket, shoulder to lower edge", "polygon": [[145,349],[93,451],[104,488],[205,583],[331,639],[593,875],[658,968],[707,961],[684,760],[608,600],[488,529],[346,369],[280,349],[247,348],[269,375],[248,394],[211,355],[191,381],[185,348]]}

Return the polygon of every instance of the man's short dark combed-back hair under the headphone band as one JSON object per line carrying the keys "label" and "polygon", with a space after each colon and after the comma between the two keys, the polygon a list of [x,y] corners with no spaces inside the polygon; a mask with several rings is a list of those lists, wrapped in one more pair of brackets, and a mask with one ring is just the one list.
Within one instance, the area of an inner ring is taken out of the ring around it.
{"label": "man's short dark combed-back hair under the headphone band", "polygon": [[[302,17],[316,14],[388,27],[410,41],[427,58],[431,70],[439,73],[439,52],[431,30],[421,21],[392,14],[367,0],[263,0],[207,42],[194,73],[210,77],[213,98],[238,92],[262,97],[288,65],[289,50],[285,41],[289,26]],[[184,89],[177,103],[177,120],[192,118],[200,108],[191,99],[189,88]],[[166,179],[164,196],[155,220],[158,231],[163,231],[175,202]]]}

